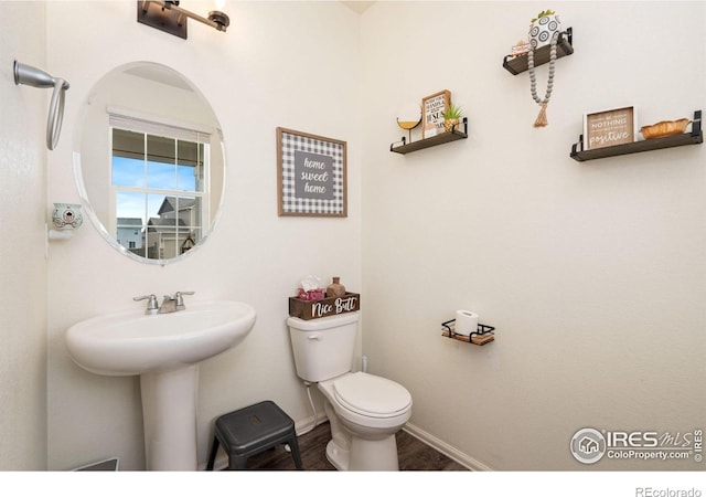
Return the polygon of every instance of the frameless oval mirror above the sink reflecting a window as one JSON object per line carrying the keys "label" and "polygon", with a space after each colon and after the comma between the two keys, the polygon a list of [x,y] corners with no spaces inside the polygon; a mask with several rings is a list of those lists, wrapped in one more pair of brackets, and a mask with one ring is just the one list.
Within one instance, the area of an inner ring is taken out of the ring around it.
{"label": "frameless oval mirror above the sink reflecting a window", "polygon": [[225,155],[216,116],[191,82],[153,62],[122,65],[90,91],[78,126],[78,192],[114,247],[167,264],[204,243],[225,191]]}

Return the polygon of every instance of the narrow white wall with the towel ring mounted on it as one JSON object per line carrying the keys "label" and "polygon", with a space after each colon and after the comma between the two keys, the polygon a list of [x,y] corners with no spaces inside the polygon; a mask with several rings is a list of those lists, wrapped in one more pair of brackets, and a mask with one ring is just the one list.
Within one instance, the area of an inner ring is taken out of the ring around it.
{"label": "narrow white wall with the towel ring mounted on it", "polygon": [[14,60],[46,66],[44,11],[40,2],[0,2],[0,212],[8,234],[0,243],[0,470],[46,468],[49,95],[15,86],[12,73]]}

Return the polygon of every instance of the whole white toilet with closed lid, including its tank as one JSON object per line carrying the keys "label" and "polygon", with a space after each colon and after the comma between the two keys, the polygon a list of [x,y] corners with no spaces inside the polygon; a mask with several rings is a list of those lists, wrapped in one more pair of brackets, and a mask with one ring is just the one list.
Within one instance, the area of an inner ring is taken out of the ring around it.
{"label": "whole white toilet with closed lid, including its tank", "polygon": [[327,458],[336,469],[398,470],[395,433],[411,416],[411,395],[392,380],[351,370],[359,313],[287,319],[297,376],[323,393]]}

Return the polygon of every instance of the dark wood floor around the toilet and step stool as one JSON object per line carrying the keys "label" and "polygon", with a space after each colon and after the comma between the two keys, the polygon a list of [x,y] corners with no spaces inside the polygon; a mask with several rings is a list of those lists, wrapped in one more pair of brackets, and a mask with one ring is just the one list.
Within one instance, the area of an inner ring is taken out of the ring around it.
{"label": "dark wood floor around the toilet and step stool", "polygon": [[[466,467],[431,448],[405,431],[397,433],[397,453],[400,470],[463,472]],[[327,461],[325,447],[331,440],[329,423],[322,423],[313,431],[299,437],[299,452],[304,470],[333,472],[335,468]],[[248,459],[248,469],[293,470],[291,454],[284,446],[266,451]]]}

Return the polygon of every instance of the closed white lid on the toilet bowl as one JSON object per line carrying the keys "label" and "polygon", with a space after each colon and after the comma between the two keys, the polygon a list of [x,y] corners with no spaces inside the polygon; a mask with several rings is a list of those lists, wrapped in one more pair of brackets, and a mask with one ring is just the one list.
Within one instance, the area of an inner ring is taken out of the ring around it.
{"label": "closed white lid on the toilet bowl", "polygon": [[411,403],[411,395],[399,383],[362,372],[335,380],[333,391],[343,406],[372,417],[396,415]]}

